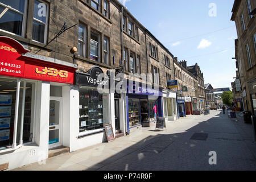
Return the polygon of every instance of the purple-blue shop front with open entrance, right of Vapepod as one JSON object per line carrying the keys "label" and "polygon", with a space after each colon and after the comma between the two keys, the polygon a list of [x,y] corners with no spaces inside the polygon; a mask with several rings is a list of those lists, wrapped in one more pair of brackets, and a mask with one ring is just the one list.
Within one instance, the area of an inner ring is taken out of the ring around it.
{"label": "purple-blue shop front with open entrance, right of Vapepod", "polygon": [[127,84],[127,133],[150,127],[157,117],[163,117],[162,89],[138,82]]}

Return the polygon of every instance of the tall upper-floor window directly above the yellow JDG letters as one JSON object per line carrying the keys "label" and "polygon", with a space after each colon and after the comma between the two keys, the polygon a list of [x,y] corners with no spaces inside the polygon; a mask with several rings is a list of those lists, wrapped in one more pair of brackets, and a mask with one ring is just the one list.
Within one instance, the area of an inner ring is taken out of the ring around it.
{"label": "tall upper-floor window directly above the yellow JDG letters", "polygon": [[48,5],[35,0],[32,40],[40,43],[46,43],[48,22]]}

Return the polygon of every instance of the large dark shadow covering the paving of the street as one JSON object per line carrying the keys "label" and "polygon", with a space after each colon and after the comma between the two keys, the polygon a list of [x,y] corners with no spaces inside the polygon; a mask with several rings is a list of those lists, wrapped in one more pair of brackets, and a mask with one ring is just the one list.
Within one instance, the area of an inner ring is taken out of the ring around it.
{"label": "large dark shadow covering the paving of the street", "polygon": [[[205,118],[182,133],[161,134],[162,131],[149,130],[159,134],[149,136],[87,170],[256,170],[254,155],[228,115],[221,111],[220,114],[205,115]],[[195,134],[196,139],[191,139]],[[200,134],[205,134],[204,140],[200,139]],[[216,165],[209,164],[210,151],[216,151]]]}

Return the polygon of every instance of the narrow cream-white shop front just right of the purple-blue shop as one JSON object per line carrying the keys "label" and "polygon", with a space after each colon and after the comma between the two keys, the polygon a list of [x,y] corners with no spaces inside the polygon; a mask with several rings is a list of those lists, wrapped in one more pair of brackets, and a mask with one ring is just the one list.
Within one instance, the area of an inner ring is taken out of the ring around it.
{"label": "narrow cream-white shop front just right of the purple-blue shop", "polygon": [[176,92],[163,90],[163,115],[166,122],[177,119]]}

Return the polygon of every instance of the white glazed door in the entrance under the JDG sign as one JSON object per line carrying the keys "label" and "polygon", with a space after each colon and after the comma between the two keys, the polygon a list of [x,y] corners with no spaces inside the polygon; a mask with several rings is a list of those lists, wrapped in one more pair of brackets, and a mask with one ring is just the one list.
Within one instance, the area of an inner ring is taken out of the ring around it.
{"label": "white glazed door in the entrance under the JDG sign", "polygon": [[49,101],[49,149],[62,145],[62,97],[50,97]]}

